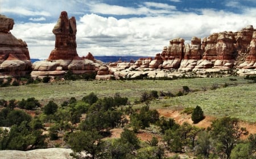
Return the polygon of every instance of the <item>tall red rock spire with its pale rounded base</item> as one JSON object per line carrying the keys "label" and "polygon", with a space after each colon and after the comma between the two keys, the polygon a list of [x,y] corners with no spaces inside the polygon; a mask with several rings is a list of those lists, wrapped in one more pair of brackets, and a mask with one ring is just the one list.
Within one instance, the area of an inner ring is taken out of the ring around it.
{"label": "tall red rock spire with its pale rounded base", "polygon": [[46,61],[33,63],[32,76],[63,75],[67,70],[74,74],[84,74],[100,67],[91,53],[86,57],[77,54],[75,17],[68,19],[67,12],[61,12],[52,32],[55,35],[55,49]]}

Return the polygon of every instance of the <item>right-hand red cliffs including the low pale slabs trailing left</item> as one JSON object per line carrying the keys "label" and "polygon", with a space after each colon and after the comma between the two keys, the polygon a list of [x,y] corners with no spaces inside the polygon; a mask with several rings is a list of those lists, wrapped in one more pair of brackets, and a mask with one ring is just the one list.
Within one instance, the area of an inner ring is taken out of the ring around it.
{"label": "right-hand red cliffs including the low pale slabs trailing left", "polygon": [[129,68],[117,68],[117,64],[109,68],[115,76],[131,78],[228,74],[233,68],[238,68],[237,74],[256,74],[256,29],[249,25],[238,32],[213,33],[203,40],[192,37],[191,44],[184,44],[183,38],[174,38],[154,59],[141,58],[130,63]]}

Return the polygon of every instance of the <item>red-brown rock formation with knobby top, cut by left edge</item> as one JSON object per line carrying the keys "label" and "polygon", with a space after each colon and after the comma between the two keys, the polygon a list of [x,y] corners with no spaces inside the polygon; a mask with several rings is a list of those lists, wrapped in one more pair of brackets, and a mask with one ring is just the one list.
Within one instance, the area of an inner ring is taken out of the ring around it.
{"label": "red-brown rock formation with knobby top, cut by left edge", "polygon": [[14,20],[0,15],[0,76],[24,76],[31,71],[27,44],[14,37]]}

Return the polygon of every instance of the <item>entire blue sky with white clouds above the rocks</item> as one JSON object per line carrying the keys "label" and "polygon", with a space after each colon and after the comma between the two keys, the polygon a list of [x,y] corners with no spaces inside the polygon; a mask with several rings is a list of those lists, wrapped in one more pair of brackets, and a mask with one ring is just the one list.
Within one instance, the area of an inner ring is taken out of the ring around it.
{"label": "entire blue sky with white clouds above the rocks", "polygon": [[255,0],[0,0],[0,14],[14,19],[10,32],[27,42],[30,58],[47,59],[60,12],[75,16],[77,53],[152,56],[173,38],[256,28]]}

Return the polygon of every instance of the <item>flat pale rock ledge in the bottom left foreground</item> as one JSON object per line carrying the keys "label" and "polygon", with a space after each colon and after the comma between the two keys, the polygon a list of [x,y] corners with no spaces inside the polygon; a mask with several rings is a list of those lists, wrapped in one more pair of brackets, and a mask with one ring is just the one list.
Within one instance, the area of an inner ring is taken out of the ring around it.
{"label": "flat pale rock ledge in the bottom left foreground", "polygon": [[35,149],[31,151],[15,151],[15,150],[3,150],[0,151],[1,159],[69,159],[69,155],[72,152],[71,149],[65,148],[47,148],[47,149]]}

